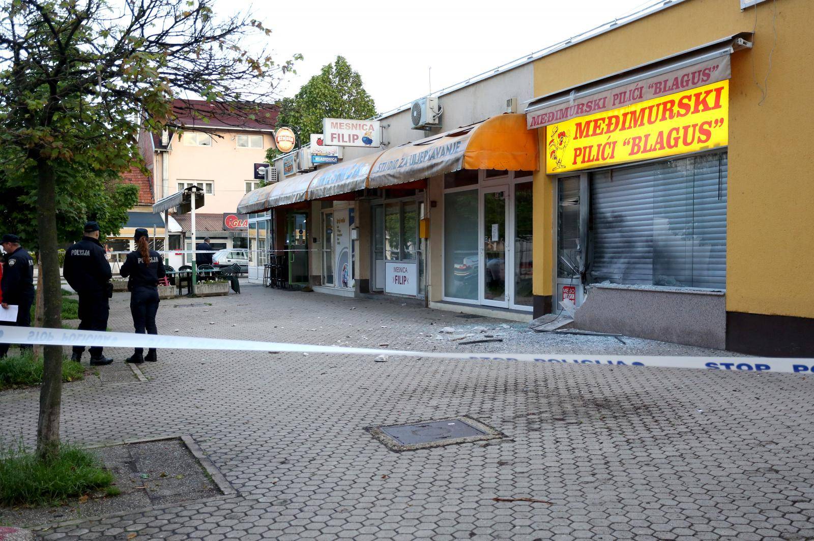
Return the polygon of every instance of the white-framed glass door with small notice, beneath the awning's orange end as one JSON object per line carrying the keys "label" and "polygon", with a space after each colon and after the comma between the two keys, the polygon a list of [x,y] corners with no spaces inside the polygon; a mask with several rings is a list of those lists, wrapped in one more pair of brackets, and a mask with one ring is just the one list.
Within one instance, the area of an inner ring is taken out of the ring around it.
{"label": "white-framed glass door with small notice, beneath the awning's orange end", "polygon": [[494,186],[480,190],[480,303],[501,308],[509,307],[506,273],[510,269],[506,242],[509,216],[509,186]]}

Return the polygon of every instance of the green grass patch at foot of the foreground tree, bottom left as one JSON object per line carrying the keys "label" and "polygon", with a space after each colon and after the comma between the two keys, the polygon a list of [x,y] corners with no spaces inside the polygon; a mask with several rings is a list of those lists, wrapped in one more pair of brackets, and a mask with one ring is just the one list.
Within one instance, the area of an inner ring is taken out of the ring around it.
{"label": "green grass patch at foot of the foreground tree, bottom left", "polygon": [[42,461],[21,441],[8,447],[0,442],[2,506],[61,504],[90,491],[111,491],[112,482],[113,474],[92,452],[63,445],[54,460]]}

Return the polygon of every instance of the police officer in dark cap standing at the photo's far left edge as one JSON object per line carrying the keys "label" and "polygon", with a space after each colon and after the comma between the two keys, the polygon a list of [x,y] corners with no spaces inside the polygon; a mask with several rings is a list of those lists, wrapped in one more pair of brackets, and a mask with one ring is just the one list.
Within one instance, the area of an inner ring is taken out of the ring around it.
{"label": "police officer in dark cap standing at the photo's far left edge", "polygon": [[[30,327],[31,304],[34,302],[34,260],[28,255],[28,251],[20,246],[20,238],[17,235],[3,235],[0,244],[6,251],[6,266],[3,268],[0,281],[2,308],[8,308],[9,304],[17,305],[17,321],[3,321],[2,325]],[[0,358],[7,355],[9,346],[10,344],[0,343]],[[20,346],[21,349],[30,347],[30,345]]]}

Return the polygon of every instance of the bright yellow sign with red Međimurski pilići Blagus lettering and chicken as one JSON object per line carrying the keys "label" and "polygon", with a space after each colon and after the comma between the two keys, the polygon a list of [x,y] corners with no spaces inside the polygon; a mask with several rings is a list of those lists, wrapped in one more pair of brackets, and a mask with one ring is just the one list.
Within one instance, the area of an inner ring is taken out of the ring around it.
{"label": "bright yellow sign with red Me\u0111imurski pili\u0107i Blagus lettering and chicken", "polygon": [[549,174],[702,151],[729,142],[729,81],[545,127]]}

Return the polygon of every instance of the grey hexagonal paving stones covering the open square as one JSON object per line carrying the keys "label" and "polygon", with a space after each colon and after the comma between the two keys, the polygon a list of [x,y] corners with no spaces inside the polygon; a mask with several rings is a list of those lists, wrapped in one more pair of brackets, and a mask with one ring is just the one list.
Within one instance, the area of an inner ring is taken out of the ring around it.
{"label": "grey hexagonal paving stones covering the open square", "polygon": [[[127,299],[113,299],[112,330],[131,329]],[[434,338],[440,326],[501,323],[260,286],[162,301],[158,317],[163,334],[438,350],[462,349]],[[470,347],[705,352],[521,329]],[[232,351],[160,351],[142,371],[148,382],[66,386],[63,438],[191,434],[239,495],[44,539],[814,539],[811,377]],[[458,415],[507,437],[396,453],[364,430]],[[36,421],[36,392],[0,394],[0,434],[33,436]]]}

